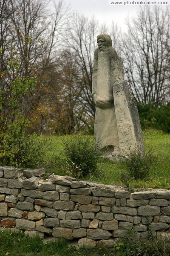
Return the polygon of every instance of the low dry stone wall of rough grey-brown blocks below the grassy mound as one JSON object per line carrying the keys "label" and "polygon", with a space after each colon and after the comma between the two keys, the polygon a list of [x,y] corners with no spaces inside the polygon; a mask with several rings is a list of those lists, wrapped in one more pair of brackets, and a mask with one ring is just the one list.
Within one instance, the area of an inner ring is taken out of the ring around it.
{"label": "low dry stone wall of rough grey-brown blocks below the grassy mound", "polygon": [[170,191],[129,193],[116,186],[68,176],[44,176],[44,169],[0,167],[0,230],[78,239],[79,246],[111,247],[135,228],[135,239],[169,232]]}

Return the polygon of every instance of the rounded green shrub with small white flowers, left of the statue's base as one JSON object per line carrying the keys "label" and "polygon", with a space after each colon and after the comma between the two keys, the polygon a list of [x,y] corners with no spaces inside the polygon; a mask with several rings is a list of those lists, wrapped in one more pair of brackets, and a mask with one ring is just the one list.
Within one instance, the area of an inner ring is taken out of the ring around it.
{"label": "rounded green shrub with small white flowers, left of the statue's base", "polygon": [[88,136],[75,135],[64,141],[68,174],[85,177],[97,169],[100,151]]}

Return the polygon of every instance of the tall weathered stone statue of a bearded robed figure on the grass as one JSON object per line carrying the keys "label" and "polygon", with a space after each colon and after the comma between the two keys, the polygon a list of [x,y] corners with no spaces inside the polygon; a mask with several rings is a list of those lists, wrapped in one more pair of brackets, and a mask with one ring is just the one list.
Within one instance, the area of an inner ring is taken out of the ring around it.
{"label": "tall weathered stone statue of a bearded robed figure on the grass", "polygon": [[94,52],[92,98],[96,105],[95,140],[104,155],[144,153],[136,101],[124,80],[124,70],[109,35],[97,37]]}

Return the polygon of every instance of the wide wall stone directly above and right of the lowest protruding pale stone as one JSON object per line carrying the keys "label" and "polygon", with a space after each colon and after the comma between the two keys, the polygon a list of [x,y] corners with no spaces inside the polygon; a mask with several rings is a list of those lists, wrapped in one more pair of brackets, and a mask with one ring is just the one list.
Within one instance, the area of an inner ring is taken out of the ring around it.
{"label": "wide wall stone directly above and right of the lowest protruding pale stone", "polygon": [[99,240],[99,239],[109,239],[112,234],[107,230],[97,229],[87,229],[86,236],[88,239]]}

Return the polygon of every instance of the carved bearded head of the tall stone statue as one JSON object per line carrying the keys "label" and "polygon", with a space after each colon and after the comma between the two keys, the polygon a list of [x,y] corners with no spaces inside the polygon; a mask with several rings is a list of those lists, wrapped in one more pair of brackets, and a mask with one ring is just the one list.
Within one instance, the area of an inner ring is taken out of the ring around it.
{"label": "carved bearded head of the tall stone statue", "polygon": [[97,44],[99,51],[106,52],[109,47],[112,47],[112,40],[110,35],[100,34],[97,36]]}

